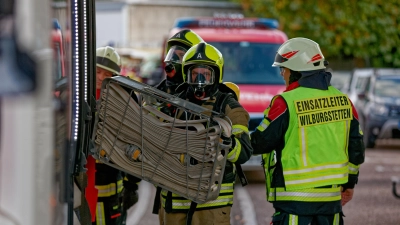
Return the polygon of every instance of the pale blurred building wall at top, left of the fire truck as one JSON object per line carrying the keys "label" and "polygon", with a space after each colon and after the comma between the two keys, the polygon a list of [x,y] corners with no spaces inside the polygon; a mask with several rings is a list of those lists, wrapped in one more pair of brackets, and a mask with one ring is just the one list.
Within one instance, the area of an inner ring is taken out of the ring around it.
{"label": "pale blurred building wall at top, left of the fire truck", "polygon": [[[120,8],[113,4],[119,4]],[[96,2],[97,46],[114,41],[116,47],[160,48],[176,18],[215,13],[242,13],[242,9],[227,1]]]}

